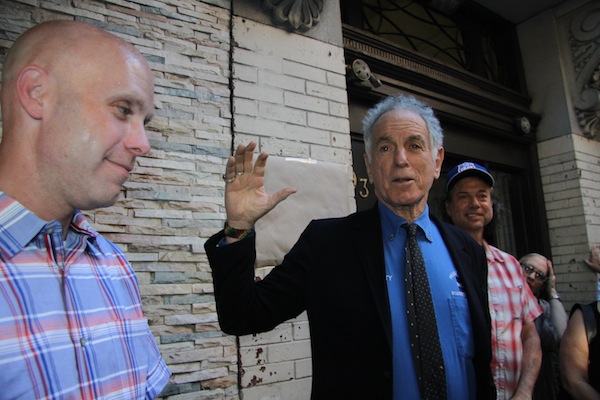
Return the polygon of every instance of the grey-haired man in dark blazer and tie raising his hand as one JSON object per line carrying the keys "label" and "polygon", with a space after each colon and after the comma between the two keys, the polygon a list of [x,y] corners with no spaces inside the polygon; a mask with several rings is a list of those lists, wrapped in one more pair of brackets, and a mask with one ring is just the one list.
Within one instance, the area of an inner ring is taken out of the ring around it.
{"label": "grey-haired man in dark blazer and tie raising his hand", "polygon": [[439,122],[398,95],[363,125],[378,204],[313,221],[259,282],[254,224],[294,189],[265,193],[267,155],[253,165],[255,144],[237,147],[224,174],[227,222],[205,245],[221,327],[267,331],[306,310],[313,399],[495,398],[483,249],[427,206],[444,158]]}

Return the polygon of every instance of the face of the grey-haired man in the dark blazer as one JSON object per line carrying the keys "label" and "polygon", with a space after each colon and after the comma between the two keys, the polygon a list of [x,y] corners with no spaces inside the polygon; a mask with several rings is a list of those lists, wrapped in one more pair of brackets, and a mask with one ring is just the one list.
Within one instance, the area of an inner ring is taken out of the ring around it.
{"label": "face of the grey-haired man in the dark blazer", "polygon": [[423,118],[407,110],[385,113],[373,126],[372,144],[365,162],[379,201],[397,214],[420,214],[444,159],[443,148],[431,149]]}

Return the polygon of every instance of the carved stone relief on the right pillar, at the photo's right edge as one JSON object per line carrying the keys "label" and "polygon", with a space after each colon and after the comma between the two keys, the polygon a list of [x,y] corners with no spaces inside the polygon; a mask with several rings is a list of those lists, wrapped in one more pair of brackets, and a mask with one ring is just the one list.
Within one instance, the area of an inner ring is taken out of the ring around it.
{"label": "carved stone relief on the right pillar, at the photo's right edge", "polygon": [[577,121],[585,136],[600,137],[600,6],[573,18],[570,42]]}

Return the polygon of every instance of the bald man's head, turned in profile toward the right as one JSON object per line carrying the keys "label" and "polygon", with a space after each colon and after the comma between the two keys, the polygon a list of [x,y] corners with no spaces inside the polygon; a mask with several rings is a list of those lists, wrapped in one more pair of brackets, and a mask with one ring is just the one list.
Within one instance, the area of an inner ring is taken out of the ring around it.
{"label": "bald man's head, turned in profile toward the right", "polygon": [[15,41],[2,71],[0,190],[46,219],[112,205],[150,150],[144,57],[100,28],[50,21]]}

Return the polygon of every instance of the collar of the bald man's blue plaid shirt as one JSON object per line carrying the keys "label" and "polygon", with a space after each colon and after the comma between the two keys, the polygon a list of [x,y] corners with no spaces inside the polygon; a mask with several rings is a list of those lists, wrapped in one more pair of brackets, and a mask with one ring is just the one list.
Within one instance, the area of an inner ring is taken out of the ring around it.
{"label": "collar of the bald man's blue plaid shirt", "polygon": [[[12,258],[42,230],[55,229],[58,221],[45,221],[25,208],[21,203],[0,191],[0,253]],[[76,210],[71,229],[95,240],[98,233],[86,217]]]}

